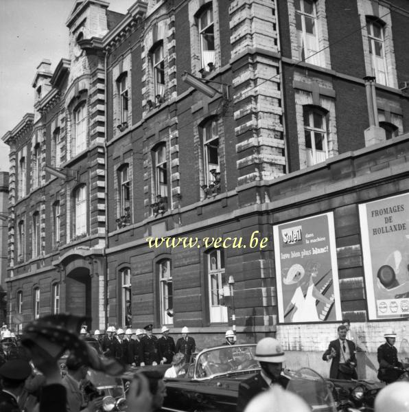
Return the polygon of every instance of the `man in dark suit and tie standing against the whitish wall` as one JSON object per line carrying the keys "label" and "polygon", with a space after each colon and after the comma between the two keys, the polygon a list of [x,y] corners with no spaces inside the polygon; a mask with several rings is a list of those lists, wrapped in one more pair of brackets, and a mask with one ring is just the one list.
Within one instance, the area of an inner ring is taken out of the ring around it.
{"label": "man in dark suit and tie standing against the whitish wall", "polygon": [[[328,349],[323,354],[323,361],[331,361],[329,368],[329,378],[352,380],[358,379],[356,373],[356,347],[353,341],[347,339],[347,327],[345,325],[338,326],[338,339],[331,341]],[[350,366],[351,374],[340,370],[340,365]]]}

